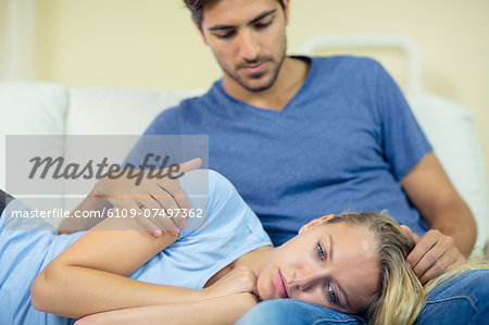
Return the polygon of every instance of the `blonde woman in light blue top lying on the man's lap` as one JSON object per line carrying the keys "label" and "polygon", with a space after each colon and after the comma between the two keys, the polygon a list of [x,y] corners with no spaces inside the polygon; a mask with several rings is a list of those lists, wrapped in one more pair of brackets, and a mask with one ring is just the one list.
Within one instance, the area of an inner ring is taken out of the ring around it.
{"label": "blonde woman in light blue top lying on the man's lap", "polygon": [[[204,173],[181,178],[190,198]],[[0,224],[0,264],[10,265],[0,274],[0,321],[233,323],[256,297],[304,300],[373,324],[410,324],[423,308],[423,287],[404,262],[414,242],[387,215],[327,215],[274,249],[227,179],[210,172],[209,193],[209,204],[192,202],[208,210],[209,224],[189,220],[189,230],[159,238],[134,218],[75,235],[9,232],[7,223],[22,222],[5,217],[9,210],[25,209],[11,202]],[[61,316],[30,307],[33,280],[33,305]]]}

